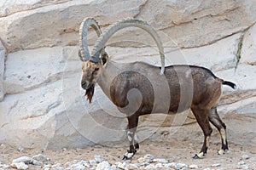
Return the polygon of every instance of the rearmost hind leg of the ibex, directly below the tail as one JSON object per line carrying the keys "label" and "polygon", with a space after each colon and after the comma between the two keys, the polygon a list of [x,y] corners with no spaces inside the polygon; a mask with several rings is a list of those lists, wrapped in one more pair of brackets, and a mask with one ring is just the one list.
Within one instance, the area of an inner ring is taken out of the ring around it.
{"label": "rearmost hind leg of the ibex, directly below the tail", "polygon": [[209,115],[210,122],[217,127],[218,132],[221,136],[221,150],[218,150],[218,154],[224,154],[224,152],[227,152],[229,150],[228,147],[228,140],[227,140],[227,134],[226,134],[226,125],[224,122],[221,121],[220,117],[218,116],[218,112],[216,108],[212,108],[210,115]]}

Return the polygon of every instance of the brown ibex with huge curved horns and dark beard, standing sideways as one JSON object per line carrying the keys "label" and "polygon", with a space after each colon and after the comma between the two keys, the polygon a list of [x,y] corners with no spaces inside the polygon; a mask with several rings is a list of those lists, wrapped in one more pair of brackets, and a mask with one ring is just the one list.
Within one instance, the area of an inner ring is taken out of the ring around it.
{"label": "brown ibex with huge curved horns and dark beard, standing sideways", "polygon": [[[96,44],[89,54],[87,31],[94,28],[98,35]],[[105,44],[116,31],[135,26],[147,31],[160,52],[161,67],[144,62],[116,63],[108,58]],[[207,153],[212,133],[210,122],[218,128],[222,147],[218,154],[228,150],[226,126],[217,113],[217,104],[222,94],[222,85],[236,88],[213,75],[207,68],[194,65],[170,65],[165,67],[165,56],[160,37],[143,20],[126,19],[101,31],[96,20],[86,18],[80,26],[79,56],[83,61],[81,86],[89,102],[96,83],[104,94],[125,113],[128,119],[127,137],[130,149],[124,159],[130,159],[139,148],[135,133],[139,116],[152,113],[179,113],[191,109],[204,133],[201,151],[194,158],[202,158]]]}

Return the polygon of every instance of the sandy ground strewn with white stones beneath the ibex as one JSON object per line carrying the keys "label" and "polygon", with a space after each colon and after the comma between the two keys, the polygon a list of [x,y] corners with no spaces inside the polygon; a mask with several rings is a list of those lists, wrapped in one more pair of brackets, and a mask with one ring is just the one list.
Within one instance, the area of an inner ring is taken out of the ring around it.
{"label": "sandy ground strewn with white stones beneath the ibex", "polygon": [[169,143],[143,141],[130,161],[122,161],[125,147],[95,145],[84,149],[39,150],[1,144],[0,169],[256,169],[255,146],[230,142],[230,152],[220,156],[220,144],[213,141],[207,156],[194,160],[192,156],[201,148],[201,143],[194,139]]}

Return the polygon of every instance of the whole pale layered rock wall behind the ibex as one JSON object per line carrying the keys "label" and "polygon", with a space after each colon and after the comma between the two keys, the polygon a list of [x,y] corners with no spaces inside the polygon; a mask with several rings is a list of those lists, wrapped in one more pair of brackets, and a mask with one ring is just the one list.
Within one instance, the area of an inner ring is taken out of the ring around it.
{"label": "whole pale layered rock wall behind the ibex", "polygon": [[[96,87],[92,105],[80,88],[79,24],[88,16],[95,17],[102,30],[127,17],[147,20],[164,42],[166,65],[201,65],[236,82],[236,91],[224,87],[218,107],[222,117],[256,113],[254,1],[6,0],[0,7],[0,143],[61,148],[125,140],[125,117],[101,88]],[[108,42],[108,54],[117,62],[160,65],[148,38],[134,28],[119,31]],[[90,33],[90,45],[95,40],[96,34]],[[166,128],[172,120],[143,116],[138,137],[183,139],[171,133],[177,127]],[[233,142],[253,143],[256,132],[249,133],[247,141],[234,136]]]}

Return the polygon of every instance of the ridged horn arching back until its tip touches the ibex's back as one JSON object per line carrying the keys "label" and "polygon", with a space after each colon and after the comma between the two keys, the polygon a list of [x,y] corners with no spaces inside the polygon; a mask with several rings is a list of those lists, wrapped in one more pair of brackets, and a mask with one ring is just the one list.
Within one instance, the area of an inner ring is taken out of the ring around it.
{"label": "ridged horn arching back until its tip touches the ibex's back", "polygon": [[160,52],[160,61],[161,61],[161,71],[160,74],[164,74],[165,71],[165,55],[164,55],[164,48],[162,46],[162,42],[160,41],[160,37],[158,36],[157,32],[154,31],[154,29],[149,26],[146,22],[143,20],[137,20],[137,19],[126,19],[121,20],[114,24],[113,26],[109,27],[107,31],[104,31],[101,35],[101,37],[98,38],[96,41],[96,45],[94,46],[91,58],[98,60],[99,56],[101,54],[101,49],[104,47],[105,43],[108,41],[108,39],[113,36],[113,34],[116,31],[119,31],[120,29],[123,29],[125,27],[135,26],[142,28],[143,30],[147,31],[153,38],[154,42],[156,42],[157,47],[159,48]]}

